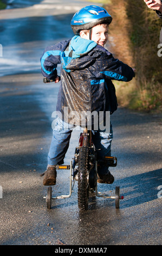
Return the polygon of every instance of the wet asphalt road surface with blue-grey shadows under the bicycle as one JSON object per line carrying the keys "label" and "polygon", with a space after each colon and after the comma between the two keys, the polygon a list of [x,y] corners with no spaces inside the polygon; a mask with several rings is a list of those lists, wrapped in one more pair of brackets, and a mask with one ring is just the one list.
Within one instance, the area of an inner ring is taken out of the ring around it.
{"label": "wet asphalt road surface with blue-grey shadows under the bicycle", "polygon": [[[111,168],[114,184],[98,190],[114,196],[120,186],[124,200],[90,196],[89,209],[77,208],[77,184],[69,199],[53,200],[47,210],[47,187],[40,174],[47,165],[51,113],[59,84],[45,86],[40,73],[44,47],[73,36],[69,22],[83,1],[53,1],[0,12],[1,136],[0,243],[1,245],[161,245],[161,115],[120,108],[112,116]],[[73,7],[73,3],[75,8]],[[61,7],[60,7],[61,6]],[[55,7],[55,9],[54,9]],[[54,16],[53,16],[54,15]],[[63,27],[66,26],[63,30]],[[69,164],[79,132],[74,131],[65,163]],[[69,173],[58,172],[53,195],[68,194]],[[162,189],[162,188],[161,188]]]}

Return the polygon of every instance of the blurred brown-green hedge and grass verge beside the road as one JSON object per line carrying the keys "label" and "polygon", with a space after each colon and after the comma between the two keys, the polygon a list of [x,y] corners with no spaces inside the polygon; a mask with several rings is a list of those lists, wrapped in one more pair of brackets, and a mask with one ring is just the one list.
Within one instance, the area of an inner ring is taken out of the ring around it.
{"label": "blurred brown-green hedge and grass verge beside the road", "polygon": [[158,57],[161,20],[140,0],[104,5],[112,15],[109,41],[114,57],[136,68],[128,83],[114,81],[121,106],[146,112],[162,110],[162,57]]}

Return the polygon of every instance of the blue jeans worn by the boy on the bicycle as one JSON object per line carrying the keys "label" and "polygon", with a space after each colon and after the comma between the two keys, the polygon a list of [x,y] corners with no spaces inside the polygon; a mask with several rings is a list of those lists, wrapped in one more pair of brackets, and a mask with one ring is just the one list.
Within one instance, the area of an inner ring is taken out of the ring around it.
{"label": "blue jeans worn by the boy on the bicycle", "polygon": [[[57,119],[48,153],[48,164],[52,166],[56,164],[63,164],[64,156],[66,155],[69,147],[70,137],[75,127],[76,126],[74,125],[65,123],[60,118]],[[112,139],[112,124],[110,125],[109,133],[101,132],[100,130],[92,131],[92,141],[98,152],[98,159],[102,159],[104,156],[111,156]],[[102,166],[102,168],[99,168],[98,172],[100,174],[105,174],[107,173],[107,169],[107,167]]]}

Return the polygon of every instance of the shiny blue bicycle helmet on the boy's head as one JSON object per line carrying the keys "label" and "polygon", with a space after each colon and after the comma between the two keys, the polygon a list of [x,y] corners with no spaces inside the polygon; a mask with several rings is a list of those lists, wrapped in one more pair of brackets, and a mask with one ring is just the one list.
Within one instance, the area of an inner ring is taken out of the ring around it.
{"label": "shiny blue bicycle helmet on the boy's head", "polygon": [[100,23],[112,22],[112,16],[105,9],[96,5],[89,5],[74,14],[71,26],[75,35],[79,35],[82,29],[91,29]]}

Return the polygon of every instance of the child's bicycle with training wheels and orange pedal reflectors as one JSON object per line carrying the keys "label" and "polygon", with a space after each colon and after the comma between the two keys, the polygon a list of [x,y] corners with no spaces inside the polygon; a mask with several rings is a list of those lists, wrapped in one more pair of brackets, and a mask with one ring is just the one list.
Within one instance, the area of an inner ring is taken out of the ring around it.
{"label": "child's bicycle with training wheels and orange pedal reflectors", "polygon": [[[44,83],[46,83],[44,80]],[[50,81],[53,82],[53,81]],[[116,167],[117,159],[115,156],[106,156],[104,162],[107,167]],[[75,148],[74,158],[68,165],[56,165],[56,169],[70,170],[69,194],[53,197],[52,187],[47,188],[47,196],[43,197],[47,202],[47,209],[51,209],[51,201],[53,199],[69,198],[72,196],[75,181],[77,181],[77,202],[80,210],[88,210],[89,192],[95,192],[95,196],[115,199],[115,208],[120,208],[120,187],[115,187],[115,196],[98,193],[98,164],[97,153],[92,142],[92,131],[88,131],[87,127],[80,133],[79,145]]]}

